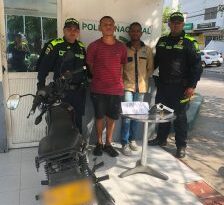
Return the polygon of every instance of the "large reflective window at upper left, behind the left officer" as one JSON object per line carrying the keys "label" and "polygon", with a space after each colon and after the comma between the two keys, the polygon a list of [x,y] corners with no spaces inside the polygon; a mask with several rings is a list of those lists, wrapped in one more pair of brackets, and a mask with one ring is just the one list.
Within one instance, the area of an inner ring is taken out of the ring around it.
{"label": "large reflective window at upper left, behind the left officer", "polygon": [[36,71],[44,43],[57,37],[56,0],[4,0],[9,72]]}

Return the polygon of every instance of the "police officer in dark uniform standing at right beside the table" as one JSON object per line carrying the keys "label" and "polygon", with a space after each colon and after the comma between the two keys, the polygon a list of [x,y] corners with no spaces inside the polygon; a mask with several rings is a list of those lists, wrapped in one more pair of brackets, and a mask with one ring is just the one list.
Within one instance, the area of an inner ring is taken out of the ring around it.
{"label": "police officer in dark uniform standing at right beside the table", "polygon": [[[177,158],[185,157],[187,139],[187,102],[194,94],[202,73],[197,42],[183,31],[184,17],[180,12],[170,16],[170,34],[161,37],[156,45],[155,67],[159,68],[156,103],[162,103],[176,114],[174,121]],[[165,146],[171,123],[158,126],[157,137],[149,145]]]}

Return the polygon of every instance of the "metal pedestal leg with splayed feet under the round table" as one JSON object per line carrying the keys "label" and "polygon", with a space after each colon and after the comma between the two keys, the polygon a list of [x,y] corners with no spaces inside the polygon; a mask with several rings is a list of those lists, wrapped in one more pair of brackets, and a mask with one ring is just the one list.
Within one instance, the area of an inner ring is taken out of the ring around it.
{"label": "metal pedestal leg with splayed feet under the round table", "polygon": [[144,135],[142,142],[142,155],[141,159],[136,162],[136,166],[134,168],[128,169],[127,171],[122,172],[119,177],[124,178],[133,174],[143,173],[148,174],[159,179],[167,180],[168,176],[163,173],[160,173],[150,166],[147,166],[147,147],[148,147],[148,122],[144,122]]}

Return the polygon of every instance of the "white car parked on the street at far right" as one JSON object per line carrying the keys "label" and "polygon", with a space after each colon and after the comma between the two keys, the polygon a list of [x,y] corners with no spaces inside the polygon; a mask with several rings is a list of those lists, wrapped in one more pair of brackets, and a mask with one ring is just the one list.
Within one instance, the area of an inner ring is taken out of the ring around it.
{"label": "white car parked on the street at far right", "polygon": [[201,50],[201,63],[203,68],[209,65],[221,66],[223,63],[222,54],[215,50]]}

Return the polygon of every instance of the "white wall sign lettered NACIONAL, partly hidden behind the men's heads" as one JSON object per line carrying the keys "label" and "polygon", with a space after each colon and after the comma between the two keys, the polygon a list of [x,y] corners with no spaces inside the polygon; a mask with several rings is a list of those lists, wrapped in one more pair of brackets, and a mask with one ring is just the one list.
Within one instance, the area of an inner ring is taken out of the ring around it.
{"label": "white wall sign lettered NACIONAL, partly hidden behind the men's heads", "polygon": [[[129,30],[129,23],[116,23],[116,31],[115,36],[118,40],[126,43],[129,40],[128,37],[128,30]],[[145,26],[142,25],[142,41],[145,43],[149,43],[151,33],[152,33],[152,26]],[[98,30],[99,22],[98,21],[90,21],[90,20],[81,20],[80,21],[80,33],[81,38],[80,40],[85,43],[87,46],[91,42],[95,41],[96,39],[102,36],[101,32]]]}

